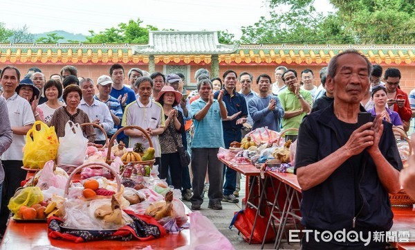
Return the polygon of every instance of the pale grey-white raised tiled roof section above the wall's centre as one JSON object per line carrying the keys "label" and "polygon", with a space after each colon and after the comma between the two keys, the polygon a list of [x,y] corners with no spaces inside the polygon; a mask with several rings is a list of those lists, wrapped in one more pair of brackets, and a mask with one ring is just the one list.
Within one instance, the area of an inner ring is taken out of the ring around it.
{"label": "pale grey-white raised tiled roof section above the wall's centre", "polygon": [[219,44],[213,31],[150,31],[149,44],[133,46],[133,54],[218,55],[234,53],[237,48],[237,44]]}

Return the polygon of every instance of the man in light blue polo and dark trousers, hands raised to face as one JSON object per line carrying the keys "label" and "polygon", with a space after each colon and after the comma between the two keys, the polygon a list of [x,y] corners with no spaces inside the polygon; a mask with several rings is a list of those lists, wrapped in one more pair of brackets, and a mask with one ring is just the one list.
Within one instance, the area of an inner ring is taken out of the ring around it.
{"label": "man in light blue polo and dark trousers, hands raised to face", "polygon": [[205,186],[206,170],[209,174],[209,205],[208,208],[221,210],[223,198],[223,164],[217,154],[223,148],[222,119],[228,114],[223,102],[223,90],[217,100],[213,98],[212,82],[209,78],[201,78],[197,82],[200,98],[190,105],[190,114],[194,123],[194,137],[192,141],[192,172],[193,196],[192,210],[200,210]]}

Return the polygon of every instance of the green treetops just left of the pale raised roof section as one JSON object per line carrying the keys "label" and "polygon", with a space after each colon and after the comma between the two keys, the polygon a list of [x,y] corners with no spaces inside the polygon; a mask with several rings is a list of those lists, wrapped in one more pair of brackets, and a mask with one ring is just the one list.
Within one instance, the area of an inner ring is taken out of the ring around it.
{"label": "green treetops just left of the pale raised roof section", "polygon": [[130,19],[127,24],[120,23],[117,27],[106,28],[100,33],[89,30],[90,37],[86,37],[87,43],[131,43],[131,44],[147,44],[149,42],[149,31],[158,30],[155,26],[141,26],[142,21]]}

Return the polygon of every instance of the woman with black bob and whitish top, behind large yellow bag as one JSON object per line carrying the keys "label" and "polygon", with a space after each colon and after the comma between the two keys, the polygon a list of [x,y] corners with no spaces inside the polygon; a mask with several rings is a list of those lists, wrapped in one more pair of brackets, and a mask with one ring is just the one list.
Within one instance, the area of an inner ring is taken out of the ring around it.
{"label": "woman with black bob and whitish top, behind large yellow bag", "polygon": [[55,110],[64,105],[63,102],[57,100],[62,96],[62,84],[55,80],[48,80],[44,86],[44,96],[48,100],[42,103],[42,105],[39,105],[39,109],[43,111],[45,123],[49,123],[52,120]]}

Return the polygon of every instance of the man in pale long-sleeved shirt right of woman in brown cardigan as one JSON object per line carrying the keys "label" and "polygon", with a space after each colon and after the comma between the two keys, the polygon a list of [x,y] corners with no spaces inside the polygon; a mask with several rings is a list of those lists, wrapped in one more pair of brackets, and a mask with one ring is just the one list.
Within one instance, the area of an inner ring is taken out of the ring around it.
{"label": "man in pale long-sleeved shirt right of woman in brown cardigan", "polygon": [[[95,93],[93,80],[91,78],[82,79],[80,87],[82,89],[82,100],[78,108],[88,114],[91,123],[100,125],[107,133],[110,132],[114,127],[114,122],[108,106],[104,102],[93,98]],[[106,143],[104,133],[99,129],[95,129],[95,134],[95,144],[104,145]]]}

